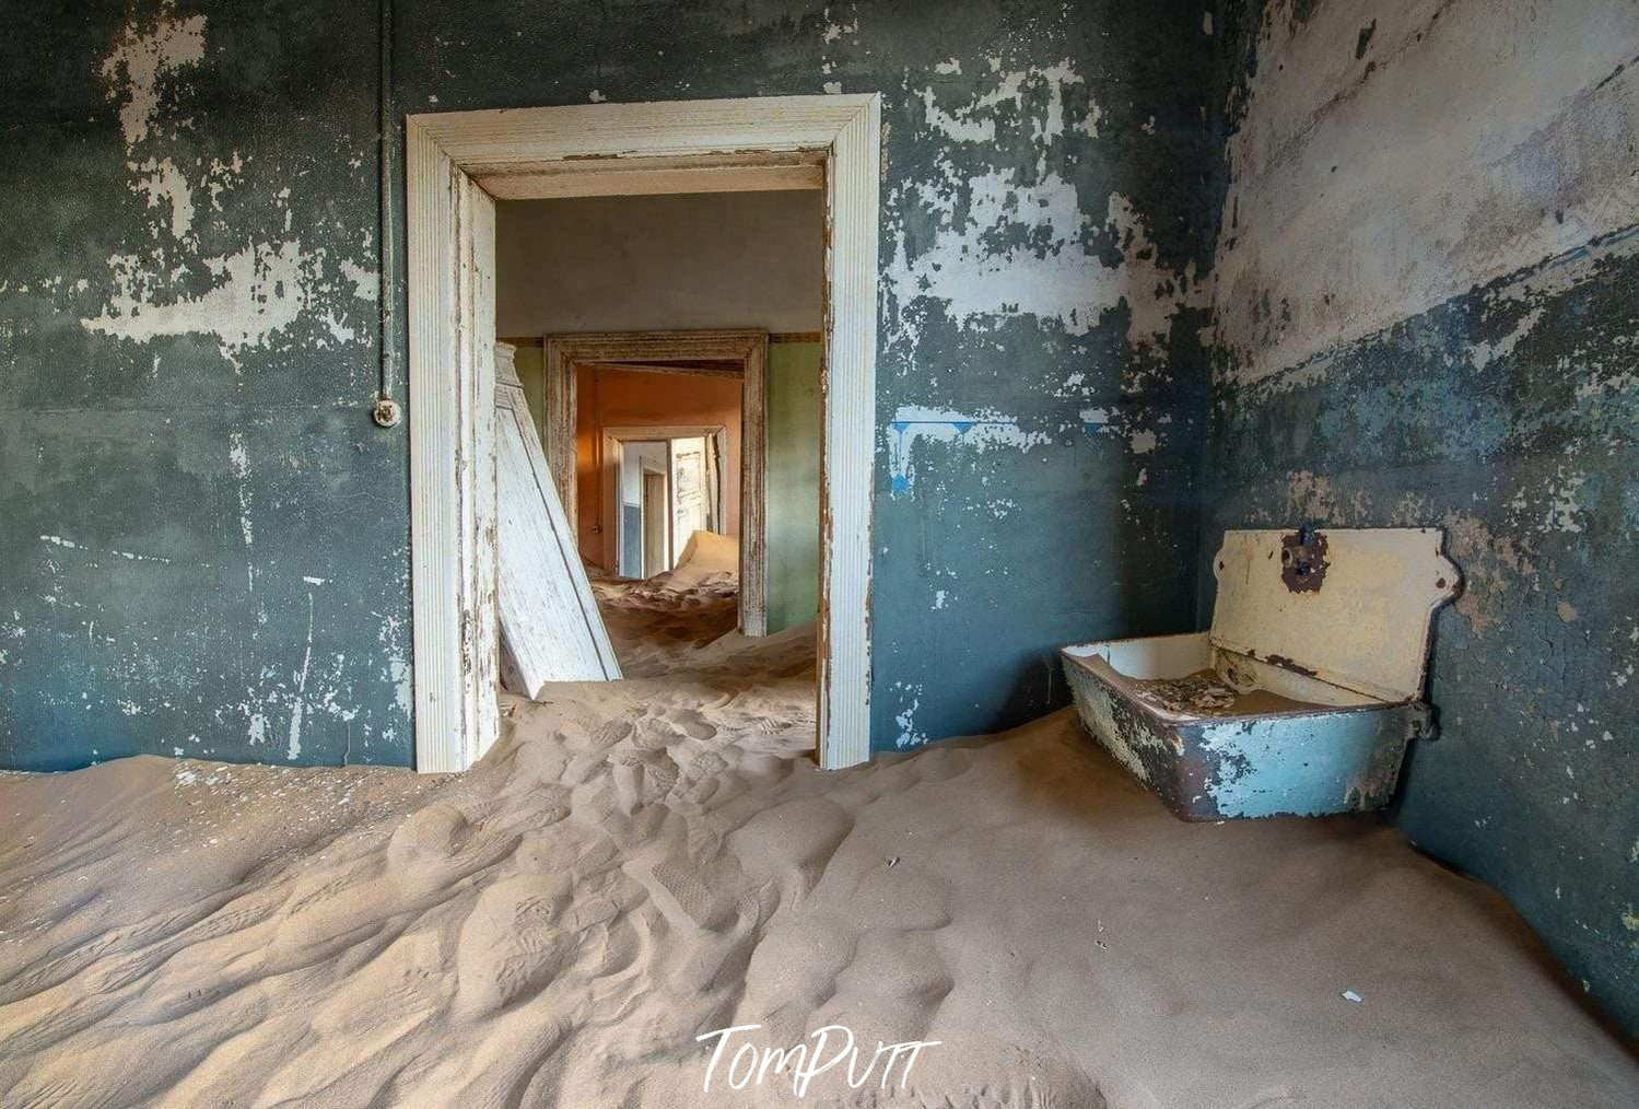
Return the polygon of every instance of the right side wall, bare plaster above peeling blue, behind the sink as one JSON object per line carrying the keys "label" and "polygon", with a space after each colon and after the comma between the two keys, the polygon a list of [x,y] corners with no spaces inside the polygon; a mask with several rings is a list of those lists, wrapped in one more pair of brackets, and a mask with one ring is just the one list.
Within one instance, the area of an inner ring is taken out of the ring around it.
{"label": "right side wall, bare plaster above peeling blue, behind the sink", "polygon": [[1396,819],[1639,1029],[1639,7],[1282,0],[1224,26],[1249,66],[1203,553],[1228,527],[1447,528],[1442,735]]}

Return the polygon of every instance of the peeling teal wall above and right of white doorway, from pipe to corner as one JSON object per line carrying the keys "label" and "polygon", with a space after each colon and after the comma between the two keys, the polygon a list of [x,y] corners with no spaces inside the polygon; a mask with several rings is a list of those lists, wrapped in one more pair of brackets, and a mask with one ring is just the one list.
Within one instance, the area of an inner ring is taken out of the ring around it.
{"label": "peeling teal wall above and right of white doorway, from pipe to corner", "polygon": [[398,112],[883,95],[874,732],[1064,704],[1065,641],[1195,615],[1196,3],[395,10]]}

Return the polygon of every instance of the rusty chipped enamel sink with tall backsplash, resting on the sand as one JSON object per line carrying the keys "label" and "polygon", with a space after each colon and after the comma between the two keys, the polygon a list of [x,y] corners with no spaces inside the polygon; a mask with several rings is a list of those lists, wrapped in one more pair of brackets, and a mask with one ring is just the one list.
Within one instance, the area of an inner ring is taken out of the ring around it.
{"label": "rusty chipped enamel sink with tall backsplash, resting on the sand", "polygon": [[1185,820],[1388,802],[1423,702],[1441,528],[1228,532],[1210,632],[1065,646],[1087,730]]}

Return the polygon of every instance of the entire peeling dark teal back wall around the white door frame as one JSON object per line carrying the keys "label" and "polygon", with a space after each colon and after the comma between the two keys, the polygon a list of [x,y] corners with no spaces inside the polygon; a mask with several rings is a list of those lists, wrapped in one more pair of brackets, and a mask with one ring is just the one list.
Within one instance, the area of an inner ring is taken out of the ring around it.
{"label": "entire peeling dark teal back wall around the white door frame", "polygon": [[[393,120],[883,95],[879,745],[1064,704],[1060,643],[1188,627],[1200,5],[397,0],[392,28]],[[367,415],[405,351],[377,331],[375,7],[8,31],[0,761],[408,763],[408,445]]]}

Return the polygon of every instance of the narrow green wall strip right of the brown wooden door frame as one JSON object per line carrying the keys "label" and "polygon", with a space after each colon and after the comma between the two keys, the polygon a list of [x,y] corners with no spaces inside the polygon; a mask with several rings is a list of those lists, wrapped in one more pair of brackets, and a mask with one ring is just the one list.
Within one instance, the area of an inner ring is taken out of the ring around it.
{"label": "narrow green wall strip right of the brown wooden door frame", "polygon": [[820,604],[820,343],[769,346],[769,632]]}

